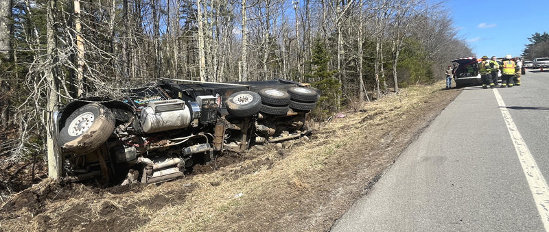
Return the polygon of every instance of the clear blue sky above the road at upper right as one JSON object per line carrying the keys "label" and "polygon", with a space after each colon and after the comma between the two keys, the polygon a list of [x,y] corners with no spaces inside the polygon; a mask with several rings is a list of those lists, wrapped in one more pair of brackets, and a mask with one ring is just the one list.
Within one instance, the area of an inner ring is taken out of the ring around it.
{"label": "clear blue sky above the road at upper right", "polygon": [[522,54],[528,37],[549,32],[549,1],[447,0],[458,35],[465,38],[477,57]]}

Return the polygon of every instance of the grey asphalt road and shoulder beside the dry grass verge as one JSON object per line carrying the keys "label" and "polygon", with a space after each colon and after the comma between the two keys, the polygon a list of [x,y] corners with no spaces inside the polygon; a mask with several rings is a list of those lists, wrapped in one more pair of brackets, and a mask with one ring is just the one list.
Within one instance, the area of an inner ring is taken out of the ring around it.
{"label": "grey asphalt road and shoulder beside the dry grass verge", "polygon": [[549,194],[525,149],[549,178],[549,71],[465,88],[332,231],[545,231]]}

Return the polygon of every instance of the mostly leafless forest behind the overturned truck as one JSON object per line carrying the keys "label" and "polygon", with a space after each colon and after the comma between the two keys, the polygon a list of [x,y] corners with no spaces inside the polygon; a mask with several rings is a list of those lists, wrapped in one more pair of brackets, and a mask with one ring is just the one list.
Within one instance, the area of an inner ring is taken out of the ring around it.
{"label": "mostly leafless forest behind the overturned truck", "polygon": [[323,120],[443,79],[457,31],[426,0],[0,0],[0,158],[45,162],[60,104],[161,78],[311,83]]}

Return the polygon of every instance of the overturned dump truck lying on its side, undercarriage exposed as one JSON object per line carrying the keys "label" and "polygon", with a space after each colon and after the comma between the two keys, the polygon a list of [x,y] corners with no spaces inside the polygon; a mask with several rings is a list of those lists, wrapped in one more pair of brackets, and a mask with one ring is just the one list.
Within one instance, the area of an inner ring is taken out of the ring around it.
{"label": "overturned dump truck lying on its side, undercarriage exposed", "polygon": [[194,83],[164,79],[125,100],[89,98],[56,112],[66,181],[159,183],[225,151],[299,138],[319,92],[283,79]]}

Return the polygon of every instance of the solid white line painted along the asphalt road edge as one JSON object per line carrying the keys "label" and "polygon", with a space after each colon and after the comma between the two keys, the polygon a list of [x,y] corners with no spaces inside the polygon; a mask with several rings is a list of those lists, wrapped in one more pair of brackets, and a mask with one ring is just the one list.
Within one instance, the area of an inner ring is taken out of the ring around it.
{"label": "solid white line painted along the asphalt road edge", "polygon": [[509,131],[511,140],[513,140],[513,145],[515,145],[515,151],[517,151],[520,165],[522,166],[528,185],[530,185],[530,192],[532,192],[532,196],[534,197],[541,222],[544,223],[545,230],[549,231],[549,188],[547,182],[544,175],[541,175],[541,171],[537,167],[528,146],[526,146],[526,143],[522,139],[517,125],[515,125],[513,118],[511,118],[511,114],[509,114],[509,110],[505,107],[500,92],[497,89],[493,89],[493,94],[495,95],[495,99],[498,100],[507,130]]}

